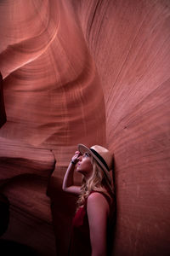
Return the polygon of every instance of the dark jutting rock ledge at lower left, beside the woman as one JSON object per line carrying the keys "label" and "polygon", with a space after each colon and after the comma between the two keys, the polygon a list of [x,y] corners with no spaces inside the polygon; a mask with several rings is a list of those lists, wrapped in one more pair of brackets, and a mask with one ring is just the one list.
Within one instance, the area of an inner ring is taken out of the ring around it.
{"label": "dark jutting rock ledge at lower left, beside the woman", "polygon": [[55,255],[50,200],[46,195],[55,166],[54,154],[3,137],[0,145],[0,247],[4,255],[29,255],[30,250],[35,255]]}

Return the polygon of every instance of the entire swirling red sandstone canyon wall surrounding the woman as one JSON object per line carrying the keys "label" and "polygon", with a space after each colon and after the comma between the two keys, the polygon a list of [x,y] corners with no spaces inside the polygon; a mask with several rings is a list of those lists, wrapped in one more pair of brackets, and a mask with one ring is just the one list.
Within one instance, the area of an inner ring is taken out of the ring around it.
{"label": "entire swirling red sandstone canyon wall surrounding the woman", "polygon": [[169,255],[170,2],[0,1],[0,72],[0,245],[66,255],[84,143],[114,154],[112,255]]}

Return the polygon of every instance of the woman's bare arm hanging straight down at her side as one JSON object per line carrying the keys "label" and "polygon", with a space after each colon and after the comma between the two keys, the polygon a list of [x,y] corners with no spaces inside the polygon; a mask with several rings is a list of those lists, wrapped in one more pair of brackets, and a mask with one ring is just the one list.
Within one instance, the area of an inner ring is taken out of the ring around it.
{"label": "woman's bare arm hanging straight down at her side", "polygon": [[98,192],[89,195],[87,210],[92,256],[106,256],[107,218],[110,207],[104,195]]}

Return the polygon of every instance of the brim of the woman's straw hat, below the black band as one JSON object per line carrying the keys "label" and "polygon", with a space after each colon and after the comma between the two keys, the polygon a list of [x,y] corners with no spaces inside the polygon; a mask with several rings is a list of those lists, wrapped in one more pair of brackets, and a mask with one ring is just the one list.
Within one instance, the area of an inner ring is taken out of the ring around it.
{"label": "brim of the woman's straw hat, below the black band", "polygon": [[111,186],[111,176],[110,176],[108,170],[105,168],[104,164],[99,160],[99,158],[90,150],[90,148],[86,147],[83,144],[78,144],[78,151],[80,151],[81,154],[88,152],[89,154],[91,154],[94,157],[94,159],[99,163],[99,166],[101,166],[101,168],[103,169],[105,176],[107,177],[107,180]]}

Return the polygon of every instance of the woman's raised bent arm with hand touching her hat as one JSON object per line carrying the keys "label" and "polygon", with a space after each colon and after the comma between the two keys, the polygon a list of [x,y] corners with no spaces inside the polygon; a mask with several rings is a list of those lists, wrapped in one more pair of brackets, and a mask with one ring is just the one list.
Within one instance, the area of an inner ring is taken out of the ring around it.
{"label": "woman's raised bent arm with hand touching her hat", "polygon": [[79,155],[80,155],[80,152],[77,151],[75,155],[72,157],[71,163],[69,164],[65,172],[65,177],[64,177],[63,186],[62,186],[62,189],[64,191],[77,194],[77,195],[80,194],[81,187],[73,185],[73,176],[74,176],[75,165],[77,164],[77,161],[78,161],[77,158]]}

